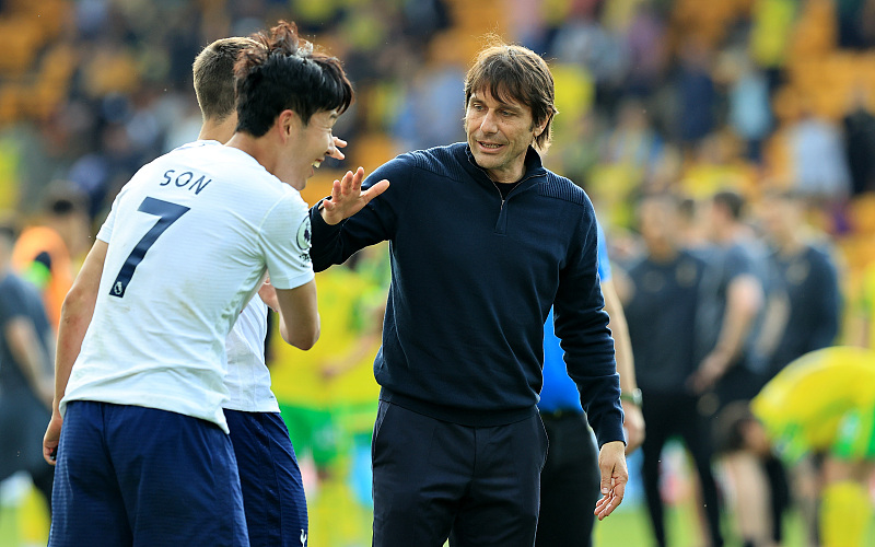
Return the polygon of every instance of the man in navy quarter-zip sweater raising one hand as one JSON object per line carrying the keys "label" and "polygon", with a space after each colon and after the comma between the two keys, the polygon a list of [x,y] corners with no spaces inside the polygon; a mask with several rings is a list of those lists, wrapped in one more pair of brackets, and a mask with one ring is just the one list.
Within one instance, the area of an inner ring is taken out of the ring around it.
{"label": "man in navy quarter-zip sweater raising one hand", "polygon": [[[599,520],[628,480],[595,214],[536,151],[557,112],[552,75],[533,51],[497,44],[468,71],[465,97],[467,142],[402,154],[363,184],[361,168],[347,173],[311,210],[316,270],[389,241],[374,362],[377,547],[534,544],[550,306],[600,446]],[[386,179],[392,187],[371,200]]]}

